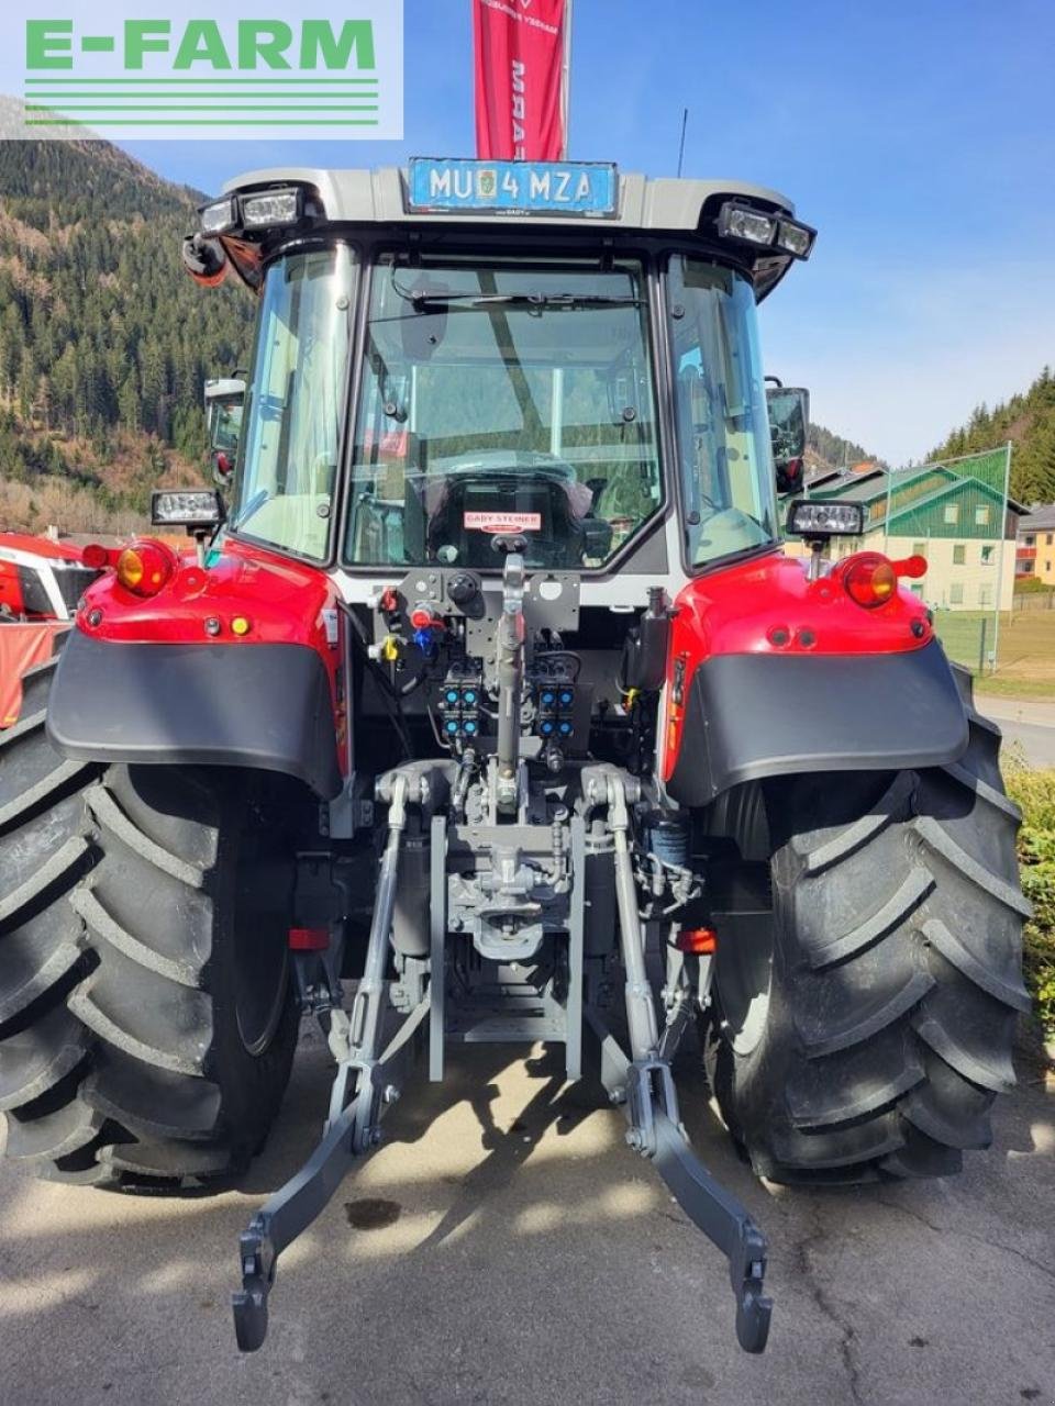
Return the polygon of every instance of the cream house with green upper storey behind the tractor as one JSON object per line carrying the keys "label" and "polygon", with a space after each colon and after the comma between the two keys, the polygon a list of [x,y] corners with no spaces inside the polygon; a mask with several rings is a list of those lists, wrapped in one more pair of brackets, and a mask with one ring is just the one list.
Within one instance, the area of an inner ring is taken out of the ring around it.
{"label": "cream house with green upper storey behind the tractor", "polygon": [[[864,508],[864,537],[834,543],[834,557],[852,551],[882,551],[893,560],[926,557],[927,575],[909,585],[933,609],[992,610],[999,602],[1010,610],[1013,544],[1025,508],[1014,499],[1004,503],[1004,475],[1006,453],[997,450],[961,464],[814,479],[809,496]],[[1055,548],[1051,555],[1055,561]]]}

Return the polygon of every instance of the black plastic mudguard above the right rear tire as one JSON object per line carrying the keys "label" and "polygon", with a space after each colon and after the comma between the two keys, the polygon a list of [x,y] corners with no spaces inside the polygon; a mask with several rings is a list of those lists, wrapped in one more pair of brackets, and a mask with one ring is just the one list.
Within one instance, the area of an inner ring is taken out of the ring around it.
{"label": "black plastic mudguard above the right rear tire", "polygon": [[966,745],[937,640],[904,654],[727,654],[692,678],[667,792],[706,806],[764,776],[945,766]]}

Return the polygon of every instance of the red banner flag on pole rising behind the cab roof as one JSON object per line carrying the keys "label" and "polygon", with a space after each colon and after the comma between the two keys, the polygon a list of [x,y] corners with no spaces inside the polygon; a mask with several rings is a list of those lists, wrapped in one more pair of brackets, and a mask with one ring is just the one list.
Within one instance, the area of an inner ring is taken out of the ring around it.
{"label": "red banner flag on pole rising behind the cab roof", "polygon": [[473,0],[477,156],[567,155],[565,25],[571,0]]}

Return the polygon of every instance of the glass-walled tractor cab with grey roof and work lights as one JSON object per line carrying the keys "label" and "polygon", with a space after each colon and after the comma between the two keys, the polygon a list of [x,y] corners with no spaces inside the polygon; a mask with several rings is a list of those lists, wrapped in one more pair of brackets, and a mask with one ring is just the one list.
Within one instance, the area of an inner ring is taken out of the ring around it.
{"label": "glass-walled tractor cab with grey roof and work lights", "polygon": [[229,533],[359,599],[501,574],[512,533],[626,607],[772,548],[755,302],[813,232],[757,187],[581,166],[563,202],[526,166],[502,204],[473,167],[255,173],[204,208],[193,271],[260,294]]}

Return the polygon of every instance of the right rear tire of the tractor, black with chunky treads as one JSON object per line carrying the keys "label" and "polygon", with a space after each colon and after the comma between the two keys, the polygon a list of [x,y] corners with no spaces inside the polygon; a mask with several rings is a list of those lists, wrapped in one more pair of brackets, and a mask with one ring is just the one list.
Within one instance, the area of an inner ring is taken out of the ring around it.
{"label": "right rear tire of the tractor, black with chunky treads", "polygon": [[961,689],[971,741],[950,766],[765,783],[768,939],[755,922],[754,948],[723,945],[719,918],[705,1057],[772,1181],[955,1173],[1014,1084],[1020,817],[999,728]]}

